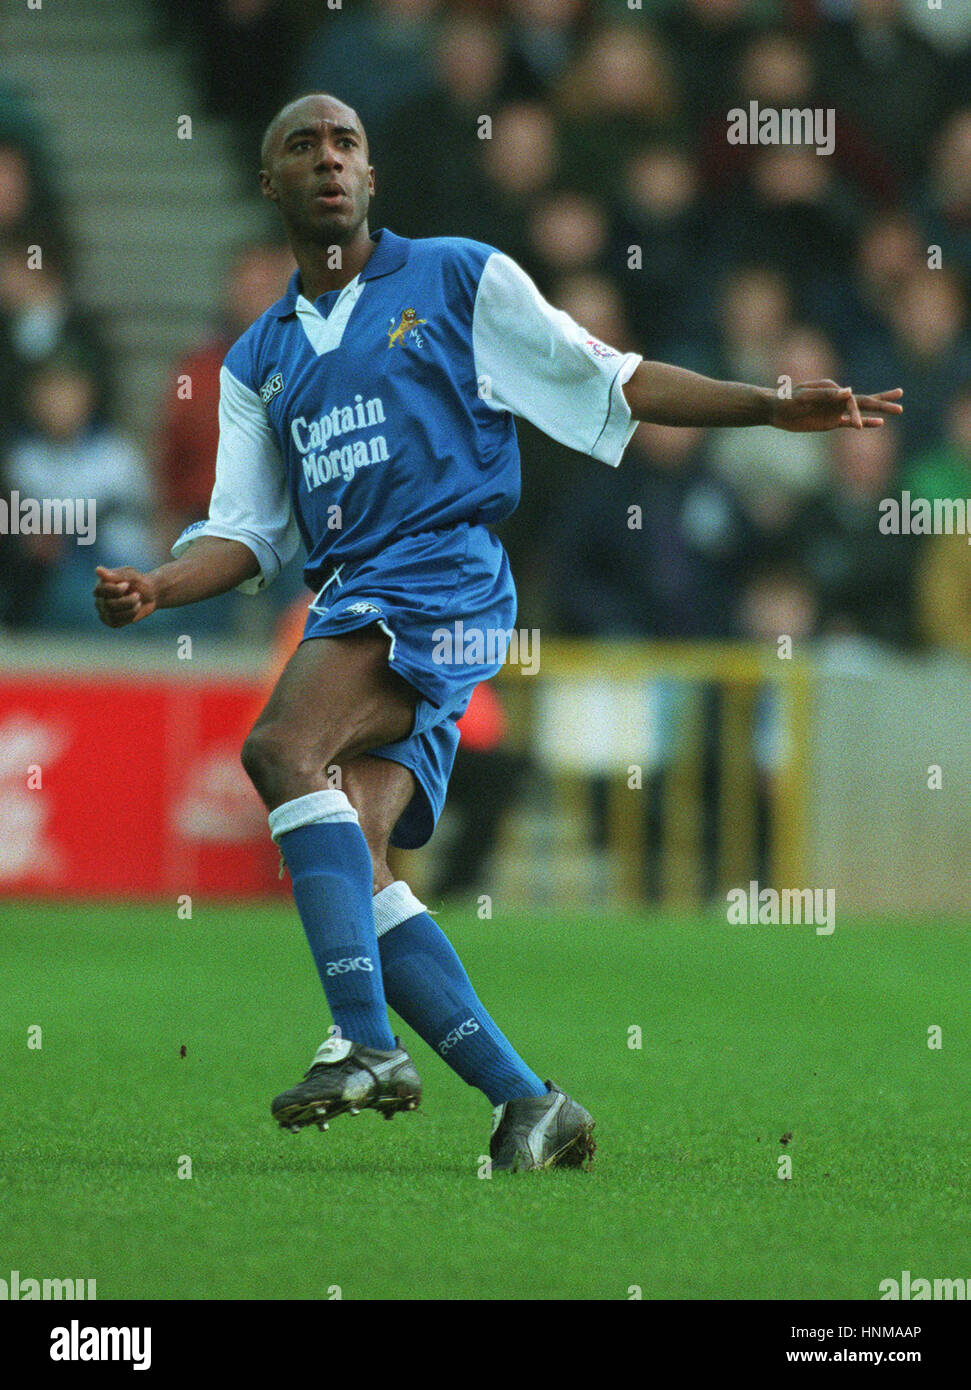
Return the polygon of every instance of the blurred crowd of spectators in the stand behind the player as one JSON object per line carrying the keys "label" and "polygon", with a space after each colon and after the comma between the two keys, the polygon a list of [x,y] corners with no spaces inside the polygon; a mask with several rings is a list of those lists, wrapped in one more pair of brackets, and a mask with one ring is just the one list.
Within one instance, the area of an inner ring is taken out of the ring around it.
{"label": "blurred crowd of spectators in the stand behind the player", "polygon": [[[971,499],[971,6],[161,10],[247,177],[274,111],[329,90],[368,129],[372,228],[489,242],[589,332],[646,357],[763,385],[904,388],[902,423],[867,434],[642,425],[617,471],[521,424],[522,505],[501,528],[521,624],[971,655],[967,537],[878,525],[902,489]],[[728,113],[750,101],[832,110],[833,153],[729,143]],[[115,364],[75,300],[54,167],[0,72],[0,485],[99,499],[81,560],[69,538],[0,537],[0,623],[21,628],[90,626],[94,563],[157,559],[204,516],[222,354],[292,268],[276,243],[232,249],[211,334],[172,363],[192,399],[167,391],[136,448],[113,423]],[[231,596],[211,623],[232,628],[240,612]]]}

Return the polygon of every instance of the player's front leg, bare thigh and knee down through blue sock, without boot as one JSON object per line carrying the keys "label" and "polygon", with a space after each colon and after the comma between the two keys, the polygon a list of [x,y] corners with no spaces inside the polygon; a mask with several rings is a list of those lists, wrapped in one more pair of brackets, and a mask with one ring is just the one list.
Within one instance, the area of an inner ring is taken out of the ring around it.
{"label": "player's front leg, bare thigh and knee down through blue sock, without boot", "polygon": [[303,642],[243,746],[269,810],[339,1036],[393,1051],[374,929],[372,870],[357,812],[328,769],[404,737],[417,692],[388,667],[376,627]]}

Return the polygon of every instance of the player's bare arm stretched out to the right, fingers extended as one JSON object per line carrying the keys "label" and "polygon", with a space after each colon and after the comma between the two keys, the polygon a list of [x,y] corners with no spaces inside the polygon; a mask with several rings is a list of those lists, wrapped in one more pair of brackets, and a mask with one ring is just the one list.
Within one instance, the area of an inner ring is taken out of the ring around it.
{"label": "player's bare arm stretched out to the right, fingers extended", "polygon": [[683,367],[642,361],[624,386],[635,420],[658,425],[710,428],[717,425],[775,425],[797,432],[815,430],[874,430],[886,416],[899,416],[903,395],[881,391],[856,396],[835,381],[807,381],[790,396],[740,381],[714,381]]}

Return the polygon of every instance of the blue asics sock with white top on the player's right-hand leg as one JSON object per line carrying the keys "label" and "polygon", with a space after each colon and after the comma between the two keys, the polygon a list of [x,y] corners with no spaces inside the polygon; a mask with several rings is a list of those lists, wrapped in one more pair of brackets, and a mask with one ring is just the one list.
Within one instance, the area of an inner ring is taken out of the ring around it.
{"label": "blue asics sock with white top on the player's right-hand leg", "polygon": [[482,1008],[449,938],[406,883],[374,899],[388,1004],[463,1081],[493,1105],[546,1095],[546,1086]]}

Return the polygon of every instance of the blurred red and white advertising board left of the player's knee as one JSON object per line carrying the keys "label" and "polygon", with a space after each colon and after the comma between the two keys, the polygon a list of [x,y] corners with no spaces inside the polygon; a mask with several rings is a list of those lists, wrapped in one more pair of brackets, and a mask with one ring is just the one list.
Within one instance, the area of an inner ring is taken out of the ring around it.
{"label": "blurred red and white advertising board left of the player's knee", "polygon": [[0,678],[0,895],[281,891],[239,749],[258,681]]}

